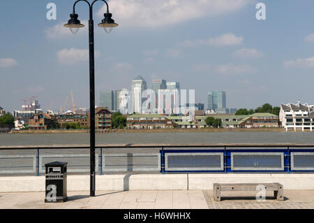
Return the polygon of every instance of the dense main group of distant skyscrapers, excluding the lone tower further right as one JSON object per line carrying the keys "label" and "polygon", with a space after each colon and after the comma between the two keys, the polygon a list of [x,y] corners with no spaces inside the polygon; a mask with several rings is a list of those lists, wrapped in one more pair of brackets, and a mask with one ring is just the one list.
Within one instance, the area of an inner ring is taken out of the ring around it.
{"label": "dense main group of distant skyscrapers, excluding the lone tower further right", "polygon": [[153,80],[151,89],[138,75],[132,80],[131,89],[100,91],[100,106],[119,110],[123,114],[172,114],[179,107],[179,82]]}

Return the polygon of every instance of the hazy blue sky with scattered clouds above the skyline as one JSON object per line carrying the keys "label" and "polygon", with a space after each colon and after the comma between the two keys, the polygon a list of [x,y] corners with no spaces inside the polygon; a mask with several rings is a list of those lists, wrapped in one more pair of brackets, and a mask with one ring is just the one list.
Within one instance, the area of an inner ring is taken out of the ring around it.
{"label": "hazy blue sky with scattered clouds above the skyline", "polygon": [[[59,110],[70,91],[77,107],[89,107],[88,28],[76,35],[63,27],[74,0],[2,0],[0,8],[0,106],[20,110],[29,96],[41,108]],[[57,20],[47,20],[48,3]],[[257,3],[266,20],[257,20]],[[130,89],[137,75],[177,81],[207,92],[224,90],[227,108],[263,103],[314,103],[313,0],[110,0],[119,24],[97,27],[105,6],[94,5],[96,105],[100,90]],[[87,25],[87,4],[77,4]]]}

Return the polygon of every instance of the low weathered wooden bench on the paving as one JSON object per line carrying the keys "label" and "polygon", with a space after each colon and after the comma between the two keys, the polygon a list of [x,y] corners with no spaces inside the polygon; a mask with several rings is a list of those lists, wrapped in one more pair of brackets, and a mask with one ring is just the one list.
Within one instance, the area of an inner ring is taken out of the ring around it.
{"label": "low weathered wooden bench on the paving", "polygon": [[214,200],[221,201],[220,192],[222,191],[258,191],[260,190],[260,187],[257,188],[258,185],[262,185],[267,191],[274,191],[274,197],[277,201],[283,201],[283,185],[278,182],[264,184],[214,184]]}

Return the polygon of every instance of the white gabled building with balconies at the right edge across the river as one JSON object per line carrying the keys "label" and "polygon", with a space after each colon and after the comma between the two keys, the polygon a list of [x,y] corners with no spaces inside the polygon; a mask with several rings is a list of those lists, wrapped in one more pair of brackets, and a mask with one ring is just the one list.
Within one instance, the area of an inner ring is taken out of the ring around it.
{"label": "white gabled building with balconies at the right edge across the river", "polygon": [[298,101],[297,104],[288,103],[287,105],[281,104],[281,111],[279,113],[279,120],[281,126],[285,128],[285,131],[293,129],[294,131],[314,129],[314,106],[308,106],[307,104],[301,104]]}

